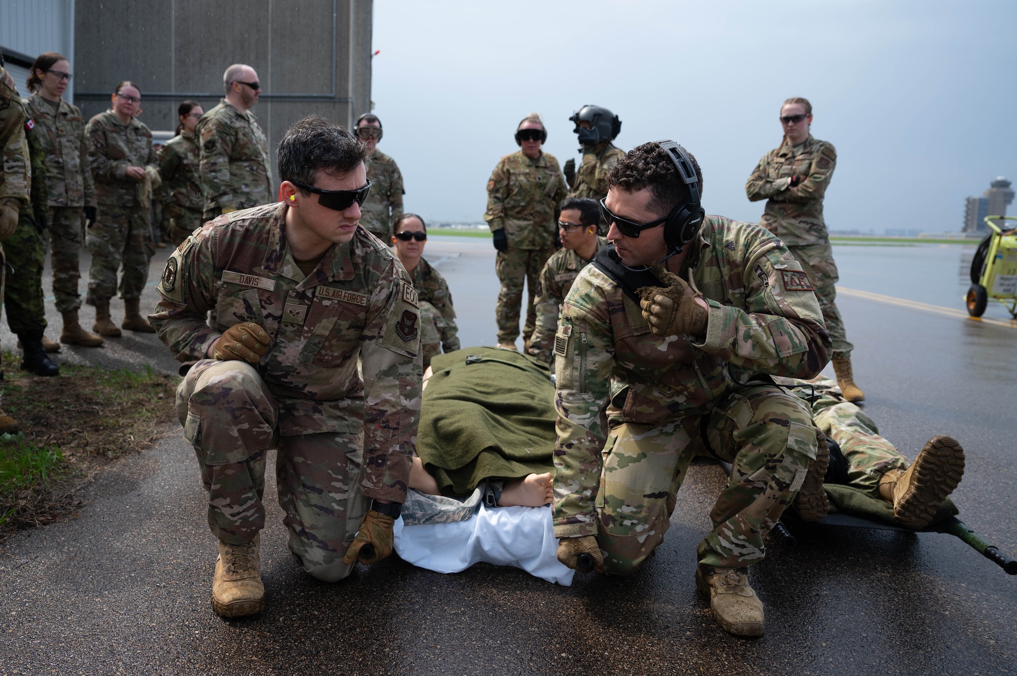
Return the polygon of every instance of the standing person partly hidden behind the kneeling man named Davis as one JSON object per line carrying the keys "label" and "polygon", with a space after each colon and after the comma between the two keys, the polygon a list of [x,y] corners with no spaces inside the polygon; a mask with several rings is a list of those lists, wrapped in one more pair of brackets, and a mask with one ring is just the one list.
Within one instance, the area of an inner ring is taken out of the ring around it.
{"label": "standing person partly hidden behind the kneeling man named Davis", "polygon": [[381,242],[392,238],[393,224],[403,213],[403,175],[396,160],[377,148],[381,140],[381,121],[365,113],[357,119],[357,137],[367,146],[367,178],[371,194],[364,202],[360,224]]}

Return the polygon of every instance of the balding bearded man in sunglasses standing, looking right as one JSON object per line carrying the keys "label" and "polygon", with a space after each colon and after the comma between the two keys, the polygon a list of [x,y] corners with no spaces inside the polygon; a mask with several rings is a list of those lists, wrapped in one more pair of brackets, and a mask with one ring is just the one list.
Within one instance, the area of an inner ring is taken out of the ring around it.
{"label": "balding bearded man in sunglasses standing, looking right", "polygon": [[275,198],[268,141],[250,111],[261,94],[257,73],[250,66],[233,64],[223,73],[223,86],[226,95],[194,129],[205,219]]}

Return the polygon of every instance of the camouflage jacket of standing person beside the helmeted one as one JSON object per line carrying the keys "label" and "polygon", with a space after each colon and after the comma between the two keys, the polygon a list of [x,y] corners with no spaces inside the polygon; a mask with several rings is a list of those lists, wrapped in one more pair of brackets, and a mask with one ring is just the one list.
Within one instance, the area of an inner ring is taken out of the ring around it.
{"label": "camouflage jacket of standing person beside the helmeted one", "polygon": [[523,151],[502,157],[487,182],[487,212],[491,231],[504,228],[515,249],[554,246],[558,202],[565,198],[565,178],[554,155],[542,152],[530,159]]}

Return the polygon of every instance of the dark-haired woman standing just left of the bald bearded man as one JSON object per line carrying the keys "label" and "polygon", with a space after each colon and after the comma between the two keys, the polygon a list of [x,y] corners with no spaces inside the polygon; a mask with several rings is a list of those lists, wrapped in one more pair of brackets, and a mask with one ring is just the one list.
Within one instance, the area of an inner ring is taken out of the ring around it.
{"label": "dark-haired woman standing just left of the bald bearded man", "polygon": [[174,247],[179,247],[188,234],[201,227],[204,197],[194,128],[203,113],[196,102],[180,104],[177,135],[164,143],[158,153],[159,172],[163,176],[163,214],[170,219],[170,242]]}

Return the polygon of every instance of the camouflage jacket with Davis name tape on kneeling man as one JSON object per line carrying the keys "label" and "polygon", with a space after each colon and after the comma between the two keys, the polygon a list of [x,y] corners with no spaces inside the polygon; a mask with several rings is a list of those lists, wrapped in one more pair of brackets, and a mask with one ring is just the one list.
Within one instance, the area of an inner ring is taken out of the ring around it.
{"label": "camouflage jacket with Davis name tape on kneeling man", "polygon": [[402,502],[420,418],[417,292],[363,228],[305,277],[283,233],[287,208],[223,214],[191,234],[167,261],[149,321],[180,361],[205,358],[235,324],[263,327],[272,342],[257,369],[279,433],[363,430],[364,494]]}

